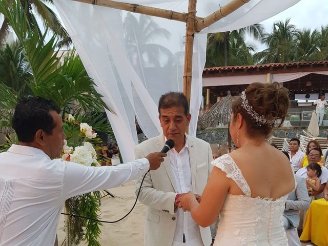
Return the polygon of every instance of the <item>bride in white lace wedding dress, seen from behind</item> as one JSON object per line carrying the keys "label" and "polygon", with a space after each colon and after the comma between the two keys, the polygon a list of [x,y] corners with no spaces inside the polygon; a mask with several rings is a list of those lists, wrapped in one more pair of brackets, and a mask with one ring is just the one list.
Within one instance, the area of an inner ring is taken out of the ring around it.
{"label": "bride in white lace wedding dress, seen from behind", "polygon": [[282,214],[294,174],[288,158],[267,141],[288,105],[278,83],[251,84],[232,105],[229,129],[238,149],[212,161],[200,203],[192,192],[179,198],[179,207],[202,227],[220,216],[215,246],[288,245]]}

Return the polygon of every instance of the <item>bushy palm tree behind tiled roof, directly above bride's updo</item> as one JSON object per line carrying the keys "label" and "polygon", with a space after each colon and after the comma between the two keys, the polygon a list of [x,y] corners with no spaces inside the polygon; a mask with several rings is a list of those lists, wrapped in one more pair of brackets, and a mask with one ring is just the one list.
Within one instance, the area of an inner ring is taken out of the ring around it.
{"label": "bushy palm tree behind tiled roof, directly above bride's updo", "polygon": [[266,33],[263,43],[267,49],[254,55],[256,63],[285,63],[294,59],[293,47],[297,29],[290,24],[290,19],[285,22],[274,23],[271,33]]}

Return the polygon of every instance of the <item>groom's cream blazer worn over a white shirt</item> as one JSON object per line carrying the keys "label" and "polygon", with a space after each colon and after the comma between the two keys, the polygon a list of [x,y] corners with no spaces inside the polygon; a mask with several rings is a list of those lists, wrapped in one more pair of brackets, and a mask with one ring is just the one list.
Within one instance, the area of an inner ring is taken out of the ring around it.
{"label": "groom's cream blazer worn over a white shirt", "polygon": [[[195,137],[188,136],[193,193],[202,194],[212,171],[213,160],[210,145]],[[143,158],[149,153],[159,152],[165,144],[164,135],[141,142],[135,147],[135,158]],[[142,179],[142,177],[141,177]],[[136,181],[136,194],[141,179]],[[170,168],[170,161],[165,157],[160,168],[150,171],[142,184],[139,201],[148,206],[145,227],[146,246],[171,246],[176,228],[174,201],[177,194],[176,183]],[[205,246],[211,244],[210,227],[200,227],[200,234]]]}

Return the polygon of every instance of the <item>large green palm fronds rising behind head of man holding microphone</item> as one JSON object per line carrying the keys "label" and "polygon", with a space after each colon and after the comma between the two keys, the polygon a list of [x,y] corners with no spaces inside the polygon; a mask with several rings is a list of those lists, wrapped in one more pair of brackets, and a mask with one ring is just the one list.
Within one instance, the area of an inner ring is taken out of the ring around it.
{"label": "large green palm fronds rising behind head of man holding microphone", "polygon": [[[11,114],[22,96],[53,100],[63,110],[63,118],[67,113],[80,115],[107,108],[74,50],[60,57],[56,51],[56,35],[48,42],[45,41],[47,31],[39,36],[37,29],[30,26],[20,2],[12,1],[9,5],[1,1],[0,12],[18,39],[0,51],[0,126],[11,126]],[[97,124],[94,127],[97,128]]]}

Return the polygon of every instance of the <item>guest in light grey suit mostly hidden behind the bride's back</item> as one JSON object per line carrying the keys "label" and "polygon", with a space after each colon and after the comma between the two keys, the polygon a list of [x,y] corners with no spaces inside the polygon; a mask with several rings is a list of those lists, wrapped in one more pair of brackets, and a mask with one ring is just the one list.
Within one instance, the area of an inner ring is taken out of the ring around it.
{"label": "guest in light grey suit mostly hidden behind the bride's back", "polygon": [[304,178],[295,175],[295,180],[296,189],[288,195],[282,220],[289,246],[301,246],[301,242],[297,235],[299,211],[308,210],[310,206]]}

